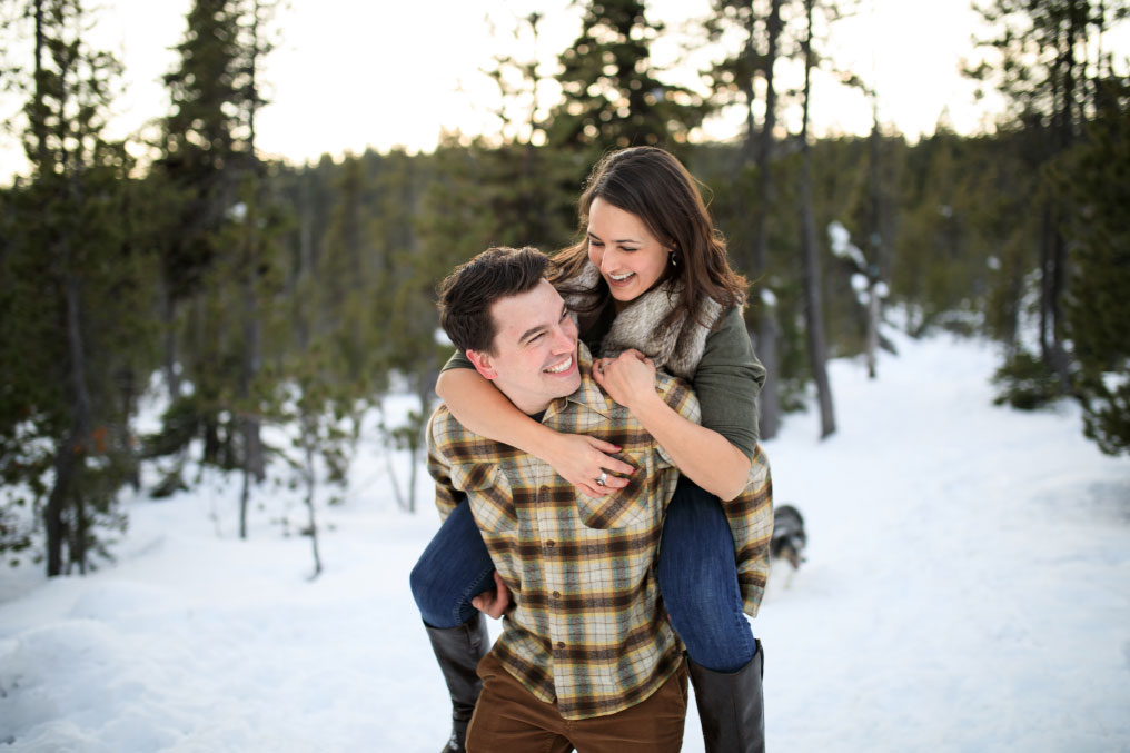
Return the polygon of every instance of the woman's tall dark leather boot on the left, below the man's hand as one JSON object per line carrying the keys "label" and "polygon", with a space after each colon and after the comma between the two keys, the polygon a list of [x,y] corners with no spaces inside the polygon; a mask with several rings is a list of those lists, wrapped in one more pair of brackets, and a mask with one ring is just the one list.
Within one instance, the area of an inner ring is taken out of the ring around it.
{"label": "woman's tall dark leather boot on the left, below the man's hand", "polygon": [[451,692],[451,739],[440,753],[462,753],[467,750],[467,725],[483,690],[475,668],[490,648],[487,621],[480,613],[458,628],[432,628],[427,623],[424,628]]}

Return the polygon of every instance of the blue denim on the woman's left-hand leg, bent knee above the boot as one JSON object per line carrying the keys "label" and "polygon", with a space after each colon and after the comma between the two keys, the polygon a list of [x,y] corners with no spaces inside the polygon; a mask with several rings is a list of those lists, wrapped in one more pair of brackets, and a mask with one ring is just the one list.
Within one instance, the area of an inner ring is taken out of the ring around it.
{"label": "blue denim on the woman's left-hand leg, bent knee above the boot", "polygon": [[494,569],[471,505],[455,505],[409,577],[424,622],[455,628],[478,614],[471,598],[495,587]]}

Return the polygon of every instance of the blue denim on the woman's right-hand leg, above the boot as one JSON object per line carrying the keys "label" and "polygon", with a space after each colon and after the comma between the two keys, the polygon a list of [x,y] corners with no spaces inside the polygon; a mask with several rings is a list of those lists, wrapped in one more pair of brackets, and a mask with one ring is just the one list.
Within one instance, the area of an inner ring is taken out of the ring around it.
{"label": "blue denim on the woman's right-hand leg, above the boot", "polygon": [[659,588],[690,659],[737,672],[757,643],[741,612],[733,537],[722,502],[687,478],[667,509],[659,547]]}

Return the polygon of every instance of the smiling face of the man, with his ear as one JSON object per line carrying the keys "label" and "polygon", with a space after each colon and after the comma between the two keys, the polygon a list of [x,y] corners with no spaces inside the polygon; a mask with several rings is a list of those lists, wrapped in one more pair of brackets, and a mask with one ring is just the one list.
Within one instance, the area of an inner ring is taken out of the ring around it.
{"label": "smiling face of the man, with his ear", "polygon": [[540,413],[581,387],[576,324],[554,286],[541,280],[490,305],[494,353],[468,350],[480,374],[523,413]]}

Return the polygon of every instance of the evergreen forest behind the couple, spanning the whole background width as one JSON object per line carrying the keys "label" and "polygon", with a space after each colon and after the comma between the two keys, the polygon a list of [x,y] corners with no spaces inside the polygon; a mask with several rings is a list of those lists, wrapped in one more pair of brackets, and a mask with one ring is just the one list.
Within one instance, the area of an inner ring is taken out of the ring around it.
{"label": "evergreen forest behind the couple, spanning the whole background width", "polygon": [[[0,188],[3,564],[97,566],[128,522],[123,490],[168,496],[205,467],[238,479],[244,520],[269,477],[301,490],[316,561],[316,505],[345,493],[362,418],[391,393],[418,408],[381,424],[385,442],[423,465],[451,354],[438,280],[493,245],[574,242],[589,170],[632,145],[703,182],[750,282],[763,438],[806,405],[833,434],[825,362],[858,355],[873,375],[881,324],[998,343],[1002,404],[1078,400],[1079,431],[1130,453],[1130,51],[1104,46],[1130,5],[977,0],[996,33],[965,75],[1007,110],[990,131],[942,120],[915,141],[877,116],[868,136],[809,132],[810,73],[833,66],[850,3],[713,0],[703,44],[732,49],[696,90],[652,61],[667,31],[646,2],[575,5],[554,71],[484,61],[513,102],[555,78],[544,114],[508,109],[497,133],[427,153],[289,164],[257,147],[263,61],[286,32],[273,2],[193,0],[165,114],[127,142],[106,135],[124,71],[90,44],[94,3],[0,0],[0,76],[20,107],[6,126],[29,165]],[[782,80],[784,62],[802,79]],[[842,79],[875,97],[863,72]],[[725,107],[748,113],[745,135],[697,137]],[[164,409],[142,430],[147,397]],[[406,509],[427,504],[406,488]]]}

